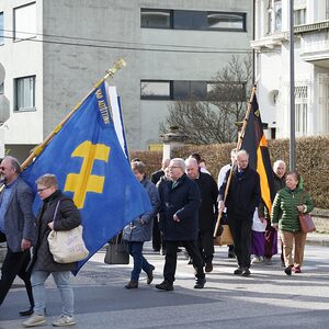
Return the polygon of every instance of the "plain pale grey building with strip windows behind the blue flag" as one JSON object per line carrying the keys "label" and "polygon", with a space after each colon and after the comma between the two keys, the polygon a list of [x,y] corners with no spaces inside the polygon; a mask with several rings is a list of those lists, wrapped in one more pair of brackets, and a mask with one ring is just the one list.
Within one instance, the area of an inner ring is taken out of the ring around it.
{"label": "plain pale grey building with strip windows behind the blue flag", "polygon": [[168,105],[205,98],[232,55],[251,53],[252,21],[252,0],[0,0],[7,148],[24,159],[120,57],[128,147],[159,143]]}

